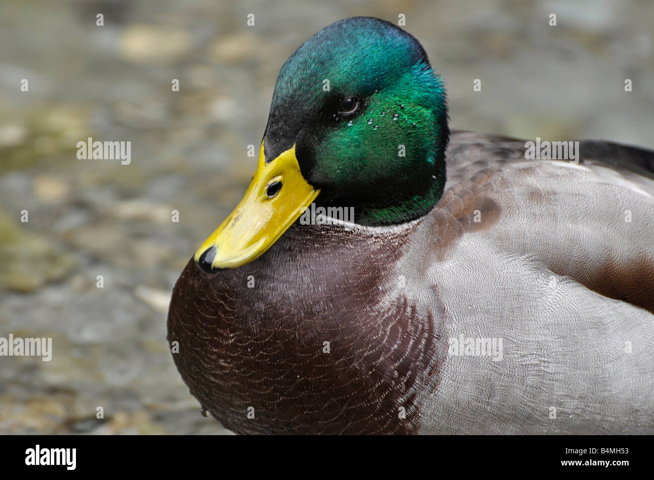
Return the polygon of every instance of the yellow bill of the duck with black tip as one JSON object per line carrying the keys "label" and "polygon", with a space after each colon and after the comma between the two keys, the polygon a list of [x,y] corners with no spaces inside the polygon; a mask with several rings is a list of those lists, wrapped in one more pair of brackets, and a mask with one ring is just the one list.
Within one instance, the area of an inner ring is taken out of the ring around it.
{"label": "yellow bill of the duck with black tip", "polygon": [[264,143],[241,203],[205,240],[195,260],[203,270],[236,268],[262,255],[320,193],[304,179],[295,145],[266,164]]}

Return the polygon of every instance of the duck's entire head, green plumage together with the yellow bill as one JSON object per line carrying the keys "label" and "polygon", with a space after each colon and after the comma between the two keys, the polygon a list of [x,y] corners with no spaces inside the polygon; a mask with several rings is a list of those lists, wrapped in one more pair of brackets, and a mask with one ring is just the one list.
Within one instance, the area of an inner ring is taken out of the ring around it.
{"label": "duck's entire head, green plumage together with the yellow bill", "polygon": [[256,259],[312,202],[360,225],[420,217],[443,193],[448,138],[445,88],[414,37],[377,18],[331,24],[279,71],[252,183],[196,262]]}

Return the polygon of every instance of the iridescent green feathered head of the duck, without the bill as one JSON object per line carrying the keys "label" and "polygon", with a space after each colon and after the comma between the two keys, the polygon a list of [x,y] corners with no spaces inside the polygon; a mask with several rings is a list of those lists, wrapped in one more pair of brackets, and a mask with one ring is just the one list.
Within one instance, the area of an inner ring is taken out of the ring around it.
{"label": "iridescent green feathered head of the duck, without the bill", "polygon": [[362,225],[432,209],[445,185],[445,88],[420,43],[377,18],[340,20],[279,72],[266,160],[292,145],[316,202],[354,207]]}

